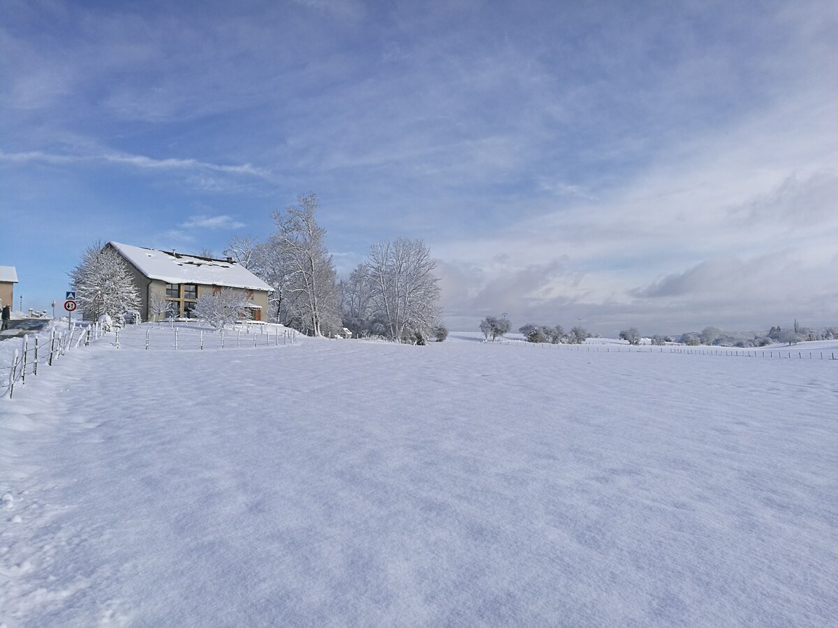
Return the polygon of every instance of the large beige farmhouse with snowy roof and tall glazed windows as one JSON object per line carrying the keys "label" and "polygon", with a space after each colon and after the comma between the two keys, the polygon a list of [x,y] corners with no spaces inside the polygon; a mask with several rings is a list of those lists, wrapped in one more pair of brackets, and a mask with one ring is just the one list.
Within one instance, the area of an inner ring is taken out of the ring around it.
{"label": "large beige farmhouse with snowy roof and tall glazed windows", "polygon": [[161,297],[172,304],[171,316],[191,318],[200,295],[217,294],[225,288],[245,292],[250,301],[248,312],[252,320],[262,321],[267,317],[268,294],[272,287],[229,257],[215,260],[119,242],[108,242],[107,247],[116,250],[127,261],[139,288],[140,316],[144,319],[158,320],[150,305]]}

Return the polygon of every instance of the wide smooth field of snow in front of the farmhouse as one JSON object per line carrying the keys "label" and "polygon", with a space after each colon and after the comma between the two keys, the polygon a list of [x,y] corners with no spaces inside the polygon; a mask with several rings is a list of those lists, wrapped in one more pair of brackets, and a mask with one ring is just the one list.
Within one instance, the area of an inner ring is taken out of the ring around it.
{"label": "wide smooth field of snow in front of the farmhouse", "polygon": [[838,361],[155,347],[0,399],[0,624],[836,623]]}

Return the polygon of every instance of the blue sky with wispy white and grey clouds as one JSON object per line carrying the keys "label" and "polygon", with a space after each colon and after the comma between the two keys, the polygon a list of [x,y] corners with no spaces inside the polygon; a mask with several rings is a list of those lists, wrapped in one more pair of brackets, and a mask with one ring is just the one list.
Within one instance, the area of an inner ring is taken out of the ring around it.
{"label": "blue sky with wispy white and grey clouds", "polygon": [[97,239],[220,253],[313,191],[341,275],[425,239],[453,328],[838,325],[836,32],[834,2],[0,0],[0,265],[49,309]]}

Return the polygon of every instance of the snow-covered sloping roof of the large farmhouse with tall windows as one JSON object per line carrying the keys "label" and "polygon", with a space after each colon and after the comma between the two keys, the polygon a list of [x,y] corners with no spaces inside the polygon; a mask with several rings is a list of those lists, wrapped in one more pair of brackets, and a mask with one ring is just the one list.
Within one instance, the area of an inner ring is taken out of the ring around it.
{"label": "snow-covered sloping roof of the large farmhouse with tall windows", "polygon": [[141,246],[122,245],[119,242],[108,244],[149,279],[165,281],[168,284],[189,283],[248,290],[273,290],[250,270],[234,261],[213,260],[174,251],[143,249]]}

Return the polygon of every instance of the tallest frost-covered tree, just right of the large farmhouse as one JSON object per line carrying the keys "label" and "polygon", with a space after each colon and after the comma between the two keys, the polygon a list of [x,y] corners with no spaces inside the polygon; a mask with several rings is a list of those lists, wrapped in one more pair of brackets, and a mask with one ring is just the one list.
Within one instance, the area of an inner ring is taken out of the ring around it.
{"label": "tallest frost-covered tree, just right of the large farmhouse", "polygon": [[274,212],[277,230],[266,247],[266,265],[278,271],[282,306],[293,311],[291,323],[313,336],[331,335],[340,327],[337,274],[325,245],[326,231],[314,213],[315,194],[297,197],[298,204]]}

